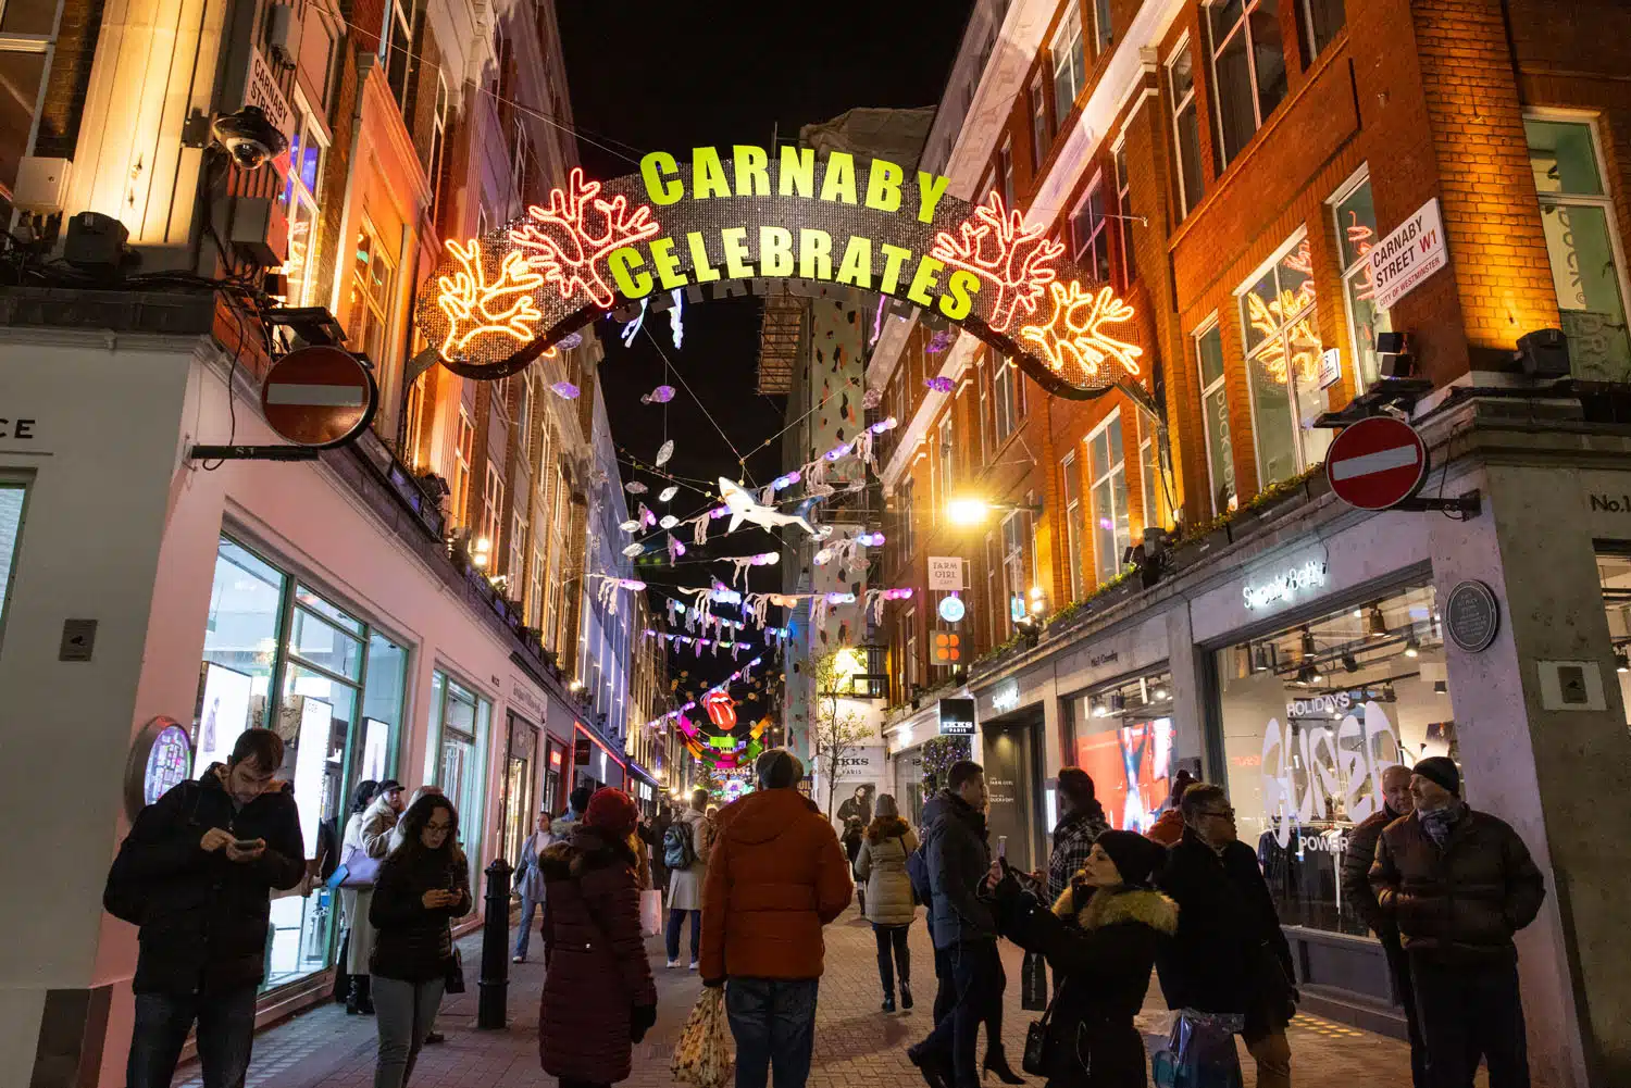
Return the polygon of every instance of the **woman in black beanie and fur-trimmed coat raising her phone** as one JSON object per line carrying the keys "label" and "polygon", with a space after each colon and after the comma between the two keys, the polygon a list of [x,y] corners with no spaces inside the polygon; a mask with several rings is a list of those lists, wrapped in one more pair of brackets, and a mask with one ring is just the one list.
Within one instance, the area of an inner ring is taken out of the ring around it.
{"label": "woman in black beanie and fur-trimmed coat raising her phone", "polygon": [[1166,851],[1143,835],[1107,830],[1093,843],[1054,912],[997,886],[998,927],[1026,951],[1042,953],[1063,979],[1047,1026],[1047,1083],[1054,1088],[1143,1088],[1143,1006],[1156,944],[1178,928],[1178,905],[1150,887]]}

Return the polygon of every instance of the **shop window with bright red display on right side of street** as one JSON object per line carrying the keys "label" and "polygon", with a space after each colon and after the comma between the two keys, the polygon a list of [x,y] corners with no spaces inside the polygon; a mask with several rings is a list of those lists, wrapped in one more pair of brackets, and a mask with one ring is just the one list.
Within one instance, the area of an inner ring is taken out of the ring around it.
{"label": "shop window with bright red display on right side of street", "polygon": [[1166,807],[1176,770],[1171,672],[1104,683],[1067,705],[1068,759],[1093,778],[1104,819],[1119,830],[1148,830]]}

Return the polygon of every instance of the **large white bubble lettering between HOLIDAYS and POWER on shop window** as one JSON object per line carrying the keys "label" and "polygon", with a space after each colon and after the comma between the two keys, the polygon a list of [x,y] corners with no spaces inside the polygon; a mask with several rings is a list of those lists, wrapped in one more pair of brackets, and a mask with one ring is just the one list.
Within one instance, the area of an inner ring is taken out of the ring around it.
{"label": "large white bubble lettering between HOLIDAYS and POWER on shop window", "polygon": [[[1347,693],[1341,693],[1342,700]],[[1399,734],[1380,703],[1354,708],[1339,723],[1269,719],[1262,734],[1262,814],[1285,847],[1292,825],[1360,822],[1383,804],[1381,772],[1399,763]],[[1287,706],[1288,718],[1292,706]]]}

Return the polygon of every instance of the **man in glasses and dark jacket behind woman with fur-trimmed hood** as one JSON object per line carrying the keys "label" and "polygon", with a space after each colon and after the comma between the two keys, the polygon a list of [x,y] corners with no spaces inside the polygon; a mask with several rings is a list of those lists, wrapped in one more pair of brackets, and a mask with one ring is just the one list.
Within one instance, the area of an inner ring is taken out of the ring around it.
{"label": "man in glasses and dark jacket behind woman with fur-trimmed hood", "polygon": [[1235,837],[1220,786],[1191,786],[1179,809],[1184,837],[1158,881],[1178,904],[1178,933],[1156,958],[1166,1005],[1243,1015],[1259,1088],[1290,1088],[1297,975],[1258,855]]}

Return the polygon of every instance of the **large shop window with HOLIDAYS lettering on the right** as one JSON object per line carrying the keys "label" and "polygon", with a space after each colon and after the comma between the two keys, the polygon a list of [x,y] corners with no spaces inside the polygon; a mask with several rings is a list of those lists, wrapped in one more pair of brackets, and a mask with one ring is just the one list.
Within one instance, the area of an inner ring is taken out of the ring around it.
{"label": "large shop window with HOLIDAYS lettering on the right", "polygon": [[1460,755],[1432,586],[1220,649],[1217,675],[1230,801],[1280,922],[1364,936],[1337,881],[1349,832],[1388,767]]}

